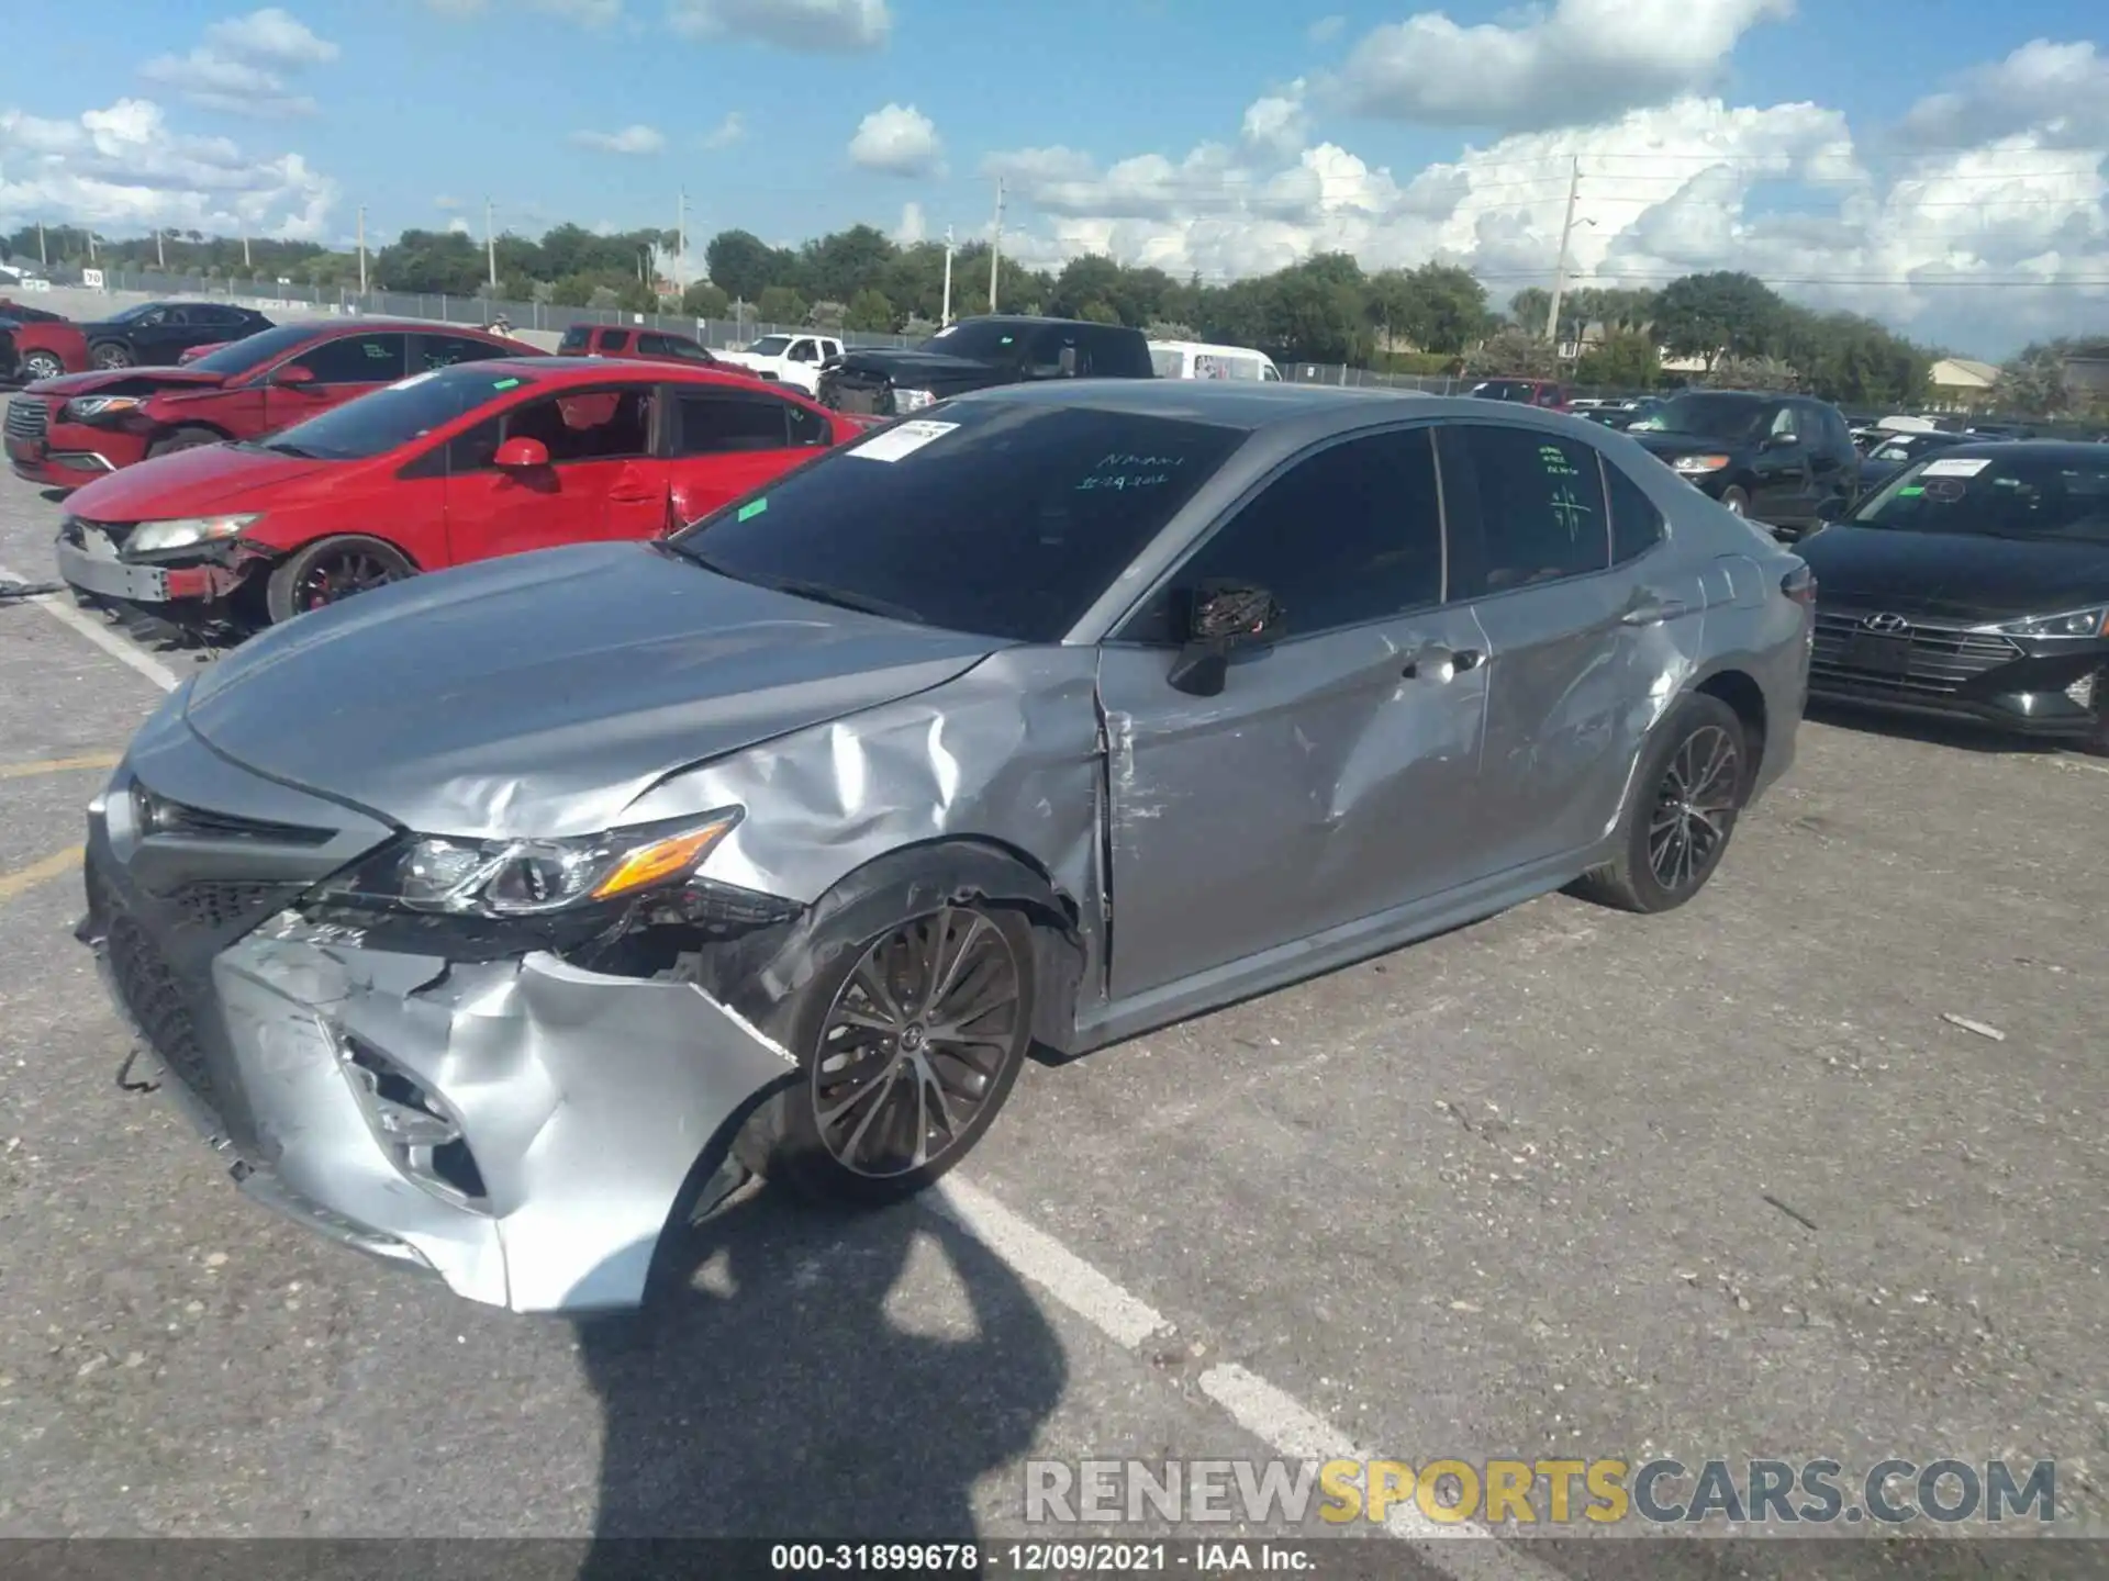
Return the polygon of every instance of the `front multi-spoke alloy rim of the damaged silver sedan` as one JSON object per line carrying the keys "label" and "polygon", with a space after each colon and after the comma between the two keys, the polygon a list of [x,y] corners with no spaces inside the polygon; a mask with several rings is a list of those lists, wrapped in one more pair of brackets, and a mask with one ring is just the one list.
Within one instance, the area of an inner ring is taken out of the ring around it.
{"label": "front multi-spoke alloy rim of the damaged silver sedan", "polygon": [[808,1092],[833,1159],[869,1178],[951,1153],[1000,1092],[1023,1027],[1004,930],[945,906],[871,944],[820,1022]]}

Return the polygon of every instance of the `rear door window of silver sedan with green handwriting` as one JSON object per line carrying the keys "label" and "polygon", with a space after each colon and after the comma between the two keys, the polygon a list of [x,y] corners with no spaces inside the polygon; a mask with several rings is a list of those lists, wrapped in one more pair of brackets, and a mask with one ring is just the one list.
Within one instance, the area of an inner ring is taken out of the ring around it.
{"label": "rear door window of silver sedan with green handwriting", "polygon": [[[1445,497],[1476,504],[1478,592],[1603,571],[1611,533],[1597,451],[1537,428],[1457,424],[1443,430]],[[1453,514],[1455,521],[1455,514]],[[1453,586],[1453,597],[1474,588]]]}

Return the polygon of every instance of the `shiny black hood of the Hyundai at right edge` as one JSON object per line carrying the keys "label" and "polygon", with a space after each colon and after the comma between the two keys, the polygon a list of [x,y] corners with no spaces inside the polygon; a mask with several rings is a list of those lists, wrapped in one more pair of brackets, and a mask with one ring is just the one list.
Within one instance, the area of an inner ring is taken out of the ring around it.
{"label": "shiny black hood of the Hyundai at right edge", "polygon": [[1818,603],[1944,620],[2054,616],[2109,599],[2109,544],[1833,523],[1795,544]]}

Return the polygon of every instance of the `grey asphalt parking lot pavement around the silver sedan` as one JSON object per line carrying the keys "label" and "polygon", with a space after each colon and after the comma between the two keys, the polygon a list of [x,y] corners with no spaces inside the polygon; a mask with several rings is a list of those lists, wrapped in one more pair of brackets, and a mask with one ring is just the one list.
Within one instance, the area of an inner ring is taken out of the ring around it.
{"label": "grey asphalt parking lot pavement around the silver sedan", "polygon": [[[0,479],[0,580],[57,519]],[[2105,763],[1810,721],[1681,913],[1552,896],[1033,1067],[949,1199],[751,1191],[662,1305],[574,1326],[276,1223],[118,1090],[72,847],[202,660],[65,613],[0,599],[0,1537],[998,1541],[1063,1535],[1027,1457],[1312,1444],[2056,1459],[2109,1533]]]}

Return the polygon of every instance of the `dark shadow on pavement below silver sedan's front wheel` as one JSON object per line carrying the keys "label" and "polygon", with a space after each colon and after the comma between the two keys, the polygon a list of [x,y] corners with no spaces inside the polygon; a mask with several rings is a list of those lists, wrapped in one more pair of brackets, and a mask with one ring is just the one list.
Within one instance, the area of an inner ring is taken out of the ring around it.
{"label": "dark shadow on pavement below silver sedan's front wheel", "polygon": [[972,1541],[974,1482],[1067,1387],[1031,1290],[915,1204],[742,1191],[662,1246],[641,1311],[578,1334],[605,1414],[582,1581],[664,1573],[628,1539]]}

